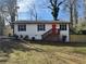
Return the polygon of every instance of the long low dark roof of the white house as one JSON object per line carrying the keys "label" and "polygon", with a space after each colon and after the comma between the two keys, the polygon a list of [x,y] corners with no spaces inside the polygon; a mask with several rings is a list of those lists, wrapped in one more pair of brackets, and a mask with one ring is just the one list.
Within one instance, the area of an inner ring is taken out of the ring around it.
{"label": "long low dark roof of the white house", "polygon": [[60,24],[60,23],[65,23],[65,24],[70,24],[70,22],[65,22],[65,21],[15,21],[15,22],[11,22],[11,24]]}

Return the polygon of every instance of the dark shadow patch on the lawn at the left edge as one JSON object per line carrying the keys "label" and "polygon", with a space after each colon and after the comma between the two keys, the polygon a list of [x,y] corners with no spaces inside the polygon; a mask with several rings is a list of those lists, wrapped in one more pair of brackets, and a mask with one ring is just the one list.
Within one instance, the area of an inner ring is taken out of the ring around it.
{"label": "dark shadow patch on the lawn at the left edge", "polygon": [[24,47],[21,46],[19,41],[11,40],[0,42],[0,50],[4,53],[12,53],[13,50],[22,50],[22,49],[24,49]]}

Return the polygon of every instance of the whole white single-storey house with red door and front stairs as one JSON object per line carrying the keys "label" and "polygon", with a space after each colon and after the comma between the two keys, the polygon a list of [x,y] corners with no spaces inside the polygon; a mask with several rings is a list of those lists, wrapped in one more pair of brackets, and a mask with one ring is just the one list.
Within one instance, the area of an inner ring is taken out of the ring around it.
{"label": "whole white single-storey house with red door and front stairs", "polygon": [[65,41],[70,41],[70,22],[16,21],[11,24],[14,25],[14,34],[19,37],[22,35],[35,40],[62,41],[62,37],[66,36]]}

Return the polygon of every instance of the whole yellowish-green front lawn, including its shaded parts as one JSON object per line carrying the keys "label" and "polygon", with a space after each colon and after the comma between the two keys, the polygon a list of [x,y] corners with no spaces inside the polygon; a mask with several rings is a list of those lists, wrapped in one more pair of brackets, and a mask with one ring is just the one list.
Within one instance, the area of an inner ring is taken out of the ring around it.
{"label": "whole yellowish-green front lawn, including its shaded parts", "polygon": [[11,40],[0,43],[0,64],[86,64],[86,43],[81,42]]}

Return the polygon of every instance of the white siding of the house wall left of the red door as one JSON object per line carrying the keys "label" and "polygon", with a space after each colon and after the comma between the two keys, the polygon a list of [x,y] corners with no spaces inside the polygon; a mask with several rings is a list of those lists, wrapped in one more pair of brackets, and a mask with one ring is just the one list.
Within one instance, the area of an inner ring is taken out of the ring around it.
{"label": "white siding of the house wall left of the red door", "polygon": [[49,29],[51,29],[51,24],[47,24],[46,25],[46,30],[45,31],[38,31],[37,30],[37,24],[27,24],[26,25],[26,31],[19,31],[17,30],[17,25],[14,26],[14,34],[16,35],[28,35],[29,39],[32,39],[32,37],[35,37],[36,39],[41,39],[41,35],[45,34],[46,31],[48,31]]}

